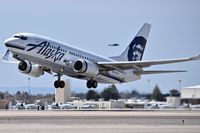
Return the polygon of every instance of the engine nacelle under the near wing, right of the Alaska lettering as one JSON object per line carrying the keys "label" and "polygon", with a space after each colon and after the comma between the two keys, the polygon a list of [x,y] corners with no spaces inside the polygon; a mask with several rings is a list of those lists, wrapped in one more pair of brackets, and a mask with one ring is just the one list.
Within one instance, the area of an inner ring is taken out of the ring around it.
{"label": "engine nacelle under the near wing, right of the Alaska lettering", "polygon": [[83,59],[78,59],[75,61],[73,70],[77,73],[81,73],[82,75],[91,77],[97,76],[99,73],[99,68],[97,65]]}

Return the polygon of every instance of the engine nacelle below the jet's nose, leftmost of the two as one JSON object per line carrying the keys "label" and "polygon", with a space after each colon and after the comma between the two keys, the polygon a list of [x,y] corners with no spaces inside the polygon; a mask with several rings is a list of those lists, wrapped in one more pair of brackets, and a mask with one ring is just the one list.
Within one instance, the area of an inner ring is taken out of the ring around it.
{"label": "engine nacelle below the jet's nose, leftmost of the two", "polygon": [[44,74],[44,71],[40,66],[34,66],[28,61],[21,61],[18,65],[18,69],[21,73],[25,73],[33,77],[40,77]]}

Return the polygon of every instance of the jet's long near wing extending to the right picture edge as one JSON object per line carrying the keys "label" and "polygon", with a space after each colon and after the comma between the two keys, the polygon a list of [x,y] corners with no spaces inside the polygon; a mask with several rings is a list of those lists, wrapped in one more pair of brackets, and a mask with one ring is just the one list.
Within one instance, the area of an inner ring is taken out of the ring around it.
{"label": "jet's long near wing extending to the right picture edge", "polygon": [[113,68],[113,69],[130,69],[135,68],[136,70],[141,70],[145,67],[150,67],[152,65],[162,65],[162,64],[171,64],[178,62],[187,62],[200,60],[200,55],[190,57],[190,58],[179,58],[179,59],[168,59],[168,60],[154,60],[154,61],[116,61],[116,62],[98,62],[97,64],[101,67]]}

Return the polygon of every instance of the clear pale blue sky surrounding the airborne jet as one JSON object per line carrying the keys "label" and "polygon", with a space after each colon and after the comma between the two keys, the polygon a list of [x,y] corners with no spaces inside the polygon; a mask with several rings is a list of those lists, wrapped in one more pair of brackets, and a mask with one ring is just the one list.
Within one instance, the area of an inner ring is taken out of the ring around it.
{"label": "clear pale blue sky surrounding the airborne jet", "polygon": [[[0,55],[6,51],[4,40],[18,32],[48,36],[104,56],[118,55],[145,22],[152,28],[143,60],[200,54],[199,0],[5,0],[0,1],[0,20]],[[108,47],[109,43],[120,46]],[[182,87],[200,84],[200,61],[148,69],[189,72],[143,76],[117,85],[118,89],[151,92],[158,83],[162,92],[168,92],[179,87],[179,80]],[[28,77],[18,72],[17,65],[0,63],[0,87],[27,86]],[[49,74],[31,78],[31,86],[53,87],[55,79]],[[87,90],[86,81],[70,81],[73,90]]]}

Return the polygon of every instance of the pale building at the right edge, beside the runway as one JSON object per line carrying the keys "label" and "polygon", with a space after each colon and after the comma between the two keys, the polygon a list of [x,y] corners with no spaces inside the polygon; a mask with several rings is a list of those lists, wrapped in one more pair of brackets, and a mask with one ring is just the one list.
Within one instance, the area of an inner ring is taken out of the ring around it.
{"label": "pale building at the right edge, beside the runway", "polygon": [[181,103],[200,104],[200,85],[182,88]]}

